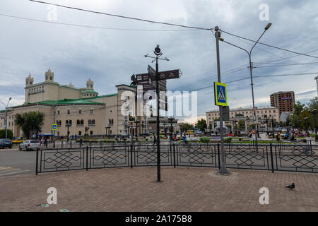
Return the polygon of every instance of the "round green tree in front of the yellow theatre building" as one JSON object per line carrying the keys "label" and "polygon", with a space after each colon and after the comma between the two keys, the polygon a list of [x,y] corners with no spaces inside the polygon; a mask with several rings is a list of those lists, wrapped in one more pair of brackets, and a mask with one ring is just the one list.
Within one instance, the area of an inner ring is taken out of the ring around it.
{"label": "round green tree in front of the yellow theatre building", "polygon": [[31,131],[40,133],[44,124],[45,114],[43,112],[24,112],[16,114],[14,123],[22,129],[24,136],[30,138]]}

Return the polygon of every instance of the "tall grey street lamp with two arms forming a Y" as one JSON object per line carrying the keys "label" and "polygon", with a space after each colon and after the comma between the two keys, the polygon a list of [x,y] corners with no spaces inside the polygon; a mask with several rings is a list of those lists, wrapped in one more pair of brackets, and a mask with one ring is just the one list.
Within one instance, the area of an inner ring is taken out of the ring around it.
{"label": "tall grey street lamp with two arms forming a Y", "polygon": [[[266,30],[268,30],[269,28],[271,27],[271,23],[268,23],[266,25],[266,27],[264,28],[264,32],[261,34],[261,36],[259,37],[259,39],[257,40],[257,42],[259,42],[259,40],[261,39],[261,37],[264,35],[264,33],[266,32]],[[257,42],[254,43],[252,49],[249,50],[249,52],[246,50],[246,49],[243,49],[242,47],[238,47],[237,45],[235,44],[232,44],[230,42],[226,42],[222,37],[219,38],[220,41],[222,42],[225,42],[225,43],[228,43],[230,45],[232,45],[233,47],[237,47],[239,49],[242,49],[244,50],[245,52],[247,52],[247,54],[249,55],[249,73],[250,73],[250,76],[251,76],[251,85],[252,85],[252,100],[253,100],[253,112],[254,112],[254,127],[255,127],[255,141],[256,141],[256,145],[257,145],[257,131],[258,131],[258,123],[257,123],[257,117],[256,117],[256,113],[255,113],[255,103],[254,103],[254,89],[253,89],[253,75],[252,75],[252,69],[253,69],[253,63],[252,63],[252,60],[251,60],[251,54],[252,54],[252,50],[254,49],[255,45],[257,44]],[[257,148],[258,150],[258,148]]]}

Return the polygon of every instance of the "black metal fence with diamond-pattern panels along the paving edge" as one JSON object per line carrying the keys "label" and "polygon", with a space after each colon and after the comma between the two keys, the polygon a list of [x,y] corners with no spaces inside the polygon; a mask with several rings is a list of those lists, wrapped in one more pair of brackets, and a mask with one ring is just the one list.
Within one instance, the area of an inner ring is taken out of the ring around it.
{"label": "black metal fence with diamond-pattern panels along the paving edge", "polygon": [[[236,169],[318,172],[318,145],[225,144],[225,165]],[[110,144],[38,150],[36,174],[74,169],[143,167],[157,164],[157,145]],[[220,144],[160,145],[160,165],[220,167]]]}

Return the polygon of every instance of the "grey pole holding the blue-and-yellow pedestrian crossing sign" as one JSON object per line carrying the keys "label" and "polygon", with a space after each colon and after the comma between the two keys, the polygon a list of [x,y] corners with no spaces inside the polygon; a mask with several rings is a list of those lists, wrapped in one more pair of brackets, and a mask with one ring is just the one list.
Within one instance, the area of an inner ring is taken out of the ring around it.
{"label": "grey pole holding the blue-and-yellow pedestrian crossing sign", "polygon": [[[220,37],[220,31],[218,30],[218,26],[216,26],[215,28],[215,36],[216,36],[216,60],[218,64],[218,83],[220,83],[220,52],[219,52],[219,46],[218,46],[218,38]],[[217,174],[229,175],[230,172],[228,172],[228,169],[226,169],[225,167],[225,151],[224,151],[224,141],[223,141],[223,106],[219,106],[219,110],[220,110],[221,165]]]}

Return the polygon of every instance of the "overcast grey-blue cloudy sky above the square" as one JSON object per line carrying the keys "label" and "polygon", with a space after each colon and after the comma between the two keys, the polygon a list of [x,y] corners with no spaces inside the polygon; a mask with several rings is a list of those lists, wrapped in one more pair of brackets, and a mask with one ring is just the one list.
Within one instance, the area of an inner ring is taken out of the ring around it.
{"label": "overcast grey-blue cloudy sky above the square", "polygon": [[[218,25],[221,30],[251,40],[257,40],[265,25],[272,23],[261,42],[318,56],[318,1],[315,0],[45,1],[201,28],[214,28]],[[260,20],[259,14],[264,15],[262,9],[259,9],[261,4],[269,6],[269,20]],[[114,85],[129,85],[133,73],[146,73],[151,59],[143,55],[152,54],[155,45],[160,44],[163,57],[170,59],[160,61],[160,70],[181,69],[183,73],[182,78],[167,82],[168,90],[198,90],[199,115],[216,108],[212,88],[213,81],[217,80],[216,40],[210,30],[158,25],[60,7],[57,7],[57,20],[48,20],[52,15],[52,8],[45,4],[28,0],[0,1],[0,101],[7,102],[8,97],[12,97],[10,106],[23,104],[25,77],[31,73],[35,83],[42,82],[48,68],[54,71],[54,80],[60,84],[71,82],[79,88],[85,86],[88,78],[91,78],[100,95],[115,93]],[[252,42],[232,37],[225,32],[222,37],[242,48],[252,47]],[[317,63],[317,58],[258,44],[252,52],[252,61],[257,66],[253,69],[253,75],[265,76],[254,78],[257,106],[269,105],[269,95],[278,91],[293,90],[296,101],[301,102],[307,102],[317,95],[314,77],[318,76],[318,64],[307,64]],[[257,64],[269,61],[271,64]],[[222,82],[247,78],[248,63],[247,54],[241,49],[220,43]],[[152,66],[155,67],[154,64]],[[316,74],[266,78],[290,73]],[[231,108],[251,107],[250,81],[228,83],[228,101]],[[4,106],[0,105],[0,109],[4,109]]]}

